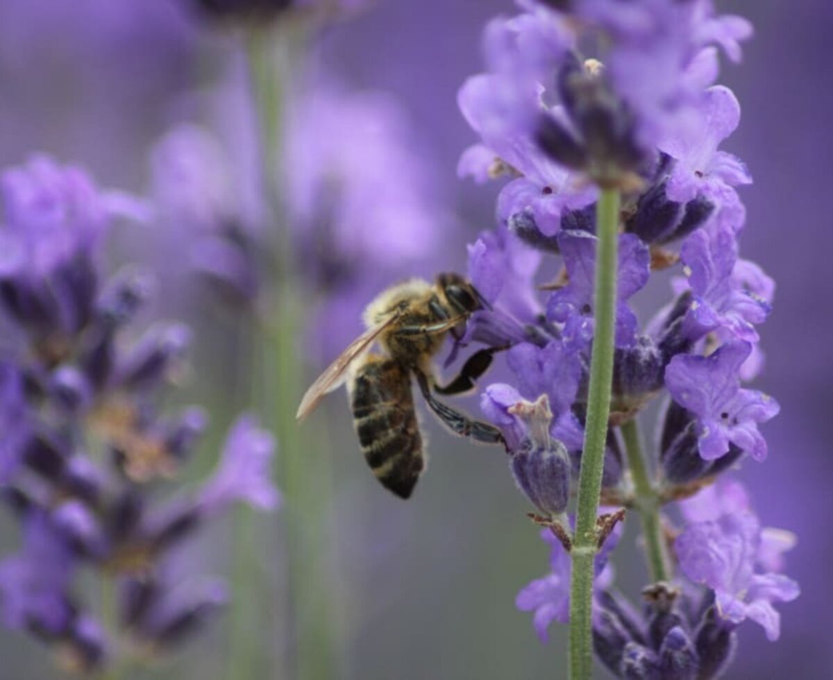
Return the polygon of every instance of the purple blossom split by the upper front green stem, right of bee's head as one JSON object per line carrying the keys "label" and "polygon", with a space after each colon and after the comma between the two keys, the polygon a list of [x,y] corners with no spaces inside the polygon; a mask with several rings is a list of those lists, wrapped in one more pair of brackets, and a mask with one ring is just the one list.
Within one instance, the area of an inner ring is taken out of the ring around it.
{"label": "purple blossom split by the upper front green stem, right of bee's head", "polygon": [[[558,237],[569,283],[556,290],[546,305],[547,317],[566,325],[565,333],[589,342],[593,333],[593,285],[596,269],[596,236],[586,231],[564,231]],[[637,236],[619,237],[619,285],[616,289],[616,346],[627,347],[636,339],[636,315],[626,300],[646,284],[651,256]]]}

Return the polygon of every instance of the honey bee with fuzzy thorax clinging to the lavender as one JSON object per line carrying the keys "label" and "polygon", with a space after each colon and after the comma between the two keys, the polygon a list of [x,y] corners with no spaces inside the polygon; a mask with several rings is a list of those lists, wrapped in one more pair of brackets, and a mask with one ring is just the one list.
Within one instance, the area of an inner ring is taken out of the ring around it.
{"label": "honey bee with fuzzy thorax clinging to the lavender", "polygon": [[[456,434],[490,444],[503,443],[501,431],[491,424],[437,400],[474,387],[488,369],[492,355],[505,347],[475,352],[448,385],[436,383],[432,358],[446,336],[456,338],[466,320],[488,303],[461,275],[445,273],[434,284],[412,279],[383,290],[367,305],[367,330],[327,366],[312,383],[298,407],[303,419],[324,395],[347,381],[353,421],[362,453],[377,479],[402,499],[411,496],[425,469],[426,459],[411,389],[416,378],[428,407]],[[382,353],[371,352],[374,343]]]}

